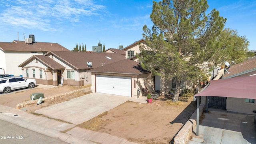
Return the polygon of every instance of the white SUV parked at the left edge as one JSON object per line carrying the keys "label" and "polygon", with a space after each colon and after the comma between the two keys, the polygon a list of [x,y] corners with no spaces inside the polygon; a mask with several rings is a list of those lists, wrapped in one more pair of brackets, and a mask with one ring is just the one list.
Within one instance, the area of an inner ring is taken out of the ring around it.
{"label": "white SUV parked at the left edge", "polygon": [[0,92],[9,93],[12,90],[20,88],[34,88],[36,86],[36,80],[31,78],[21,77],[4,77],[0,78]]}

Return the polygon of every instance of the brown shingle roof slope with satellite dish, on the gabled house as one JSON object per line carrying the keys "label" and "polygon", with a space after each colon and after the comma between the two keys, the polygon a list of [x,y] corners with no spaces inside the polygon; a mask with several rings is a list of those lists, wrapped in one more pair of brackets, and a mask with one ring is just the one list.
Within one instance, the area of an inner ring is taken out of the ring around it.
{"label": "brown shingle roof slope with satellite dish, on the gabled house", "polygon": [[[122,54],[118,53],[107,53],[107,52],[61,52],[61,51],[50,51],[46,53],[46,56],[54,54],[60,60],[63,60],[70,66],[74,67],[77,70],[80,69],[92,69],[97,68],[106,64],[124,60],[125,57]],[[112,60],[106,58],[109,57]],[[92,62],[92,67],[88,67],[86,62]]]}

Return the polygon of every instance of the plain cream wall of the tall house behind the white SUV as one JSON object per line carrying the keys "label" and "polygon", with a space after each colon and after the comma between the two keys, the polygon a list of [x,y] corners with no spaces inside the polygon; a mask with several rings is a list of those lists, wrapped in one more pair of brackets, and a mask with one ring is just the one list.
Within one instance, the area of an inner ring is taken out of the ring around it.
{"label": "plain cream wall of the tall house behind the white SUV", "polygon": [[[22,62],[26,61],[36,53],[31,52],[5,52],[5,73],[13,74],[14,76],[22,75],[22,70],[18,67]],[[38,52],[36,55],[42,55],[42,52]],[[1,62],[2,63],[2,62]]]}

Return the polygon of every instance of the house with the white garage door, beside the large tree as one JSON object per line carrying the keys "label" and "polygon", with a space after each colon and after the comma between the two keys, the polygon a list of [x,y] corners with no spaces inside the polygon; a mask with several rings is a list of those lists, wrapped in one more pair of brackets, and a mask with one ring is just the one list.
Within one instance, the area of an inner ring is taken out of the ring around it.
{"label": "house with the white garage door, beside the large tree", "polygon": [[87,70],[92,73],[92,92],[138,98],[150,88],[152,75],[134,60],[125,59]]}

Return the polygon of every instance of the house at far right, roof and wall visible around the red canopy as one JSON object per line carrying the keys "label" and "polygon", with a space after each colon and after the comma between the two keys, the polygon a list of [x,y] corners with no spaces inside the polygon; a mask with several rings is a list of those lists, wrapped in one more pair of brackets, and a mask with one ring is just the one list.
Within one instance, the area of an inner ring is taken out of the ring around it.
{"label": "house at far right, roof and wall visible around the red canopy", "polygon": [[[221,79],[254,75],[256,75],[256,57],[230,66],[228,71],[225,72]],[[238,89],[242,90],[243,88],[241,87]],[[252,111],[256,110],[256,95],[255,99],[227,98],[226,110],[231,112],[253,114]]]}

